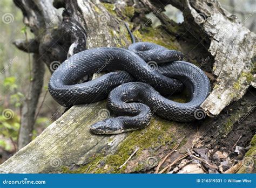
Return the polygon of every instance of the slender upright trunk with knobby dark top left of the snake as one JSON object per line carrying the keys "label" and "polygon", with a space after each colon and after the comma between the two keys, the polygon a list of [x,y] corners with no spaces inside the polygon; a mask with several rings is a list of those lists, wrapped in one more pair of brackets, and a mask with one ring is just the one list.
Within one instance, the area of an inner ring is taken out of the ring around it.
{"label": "slender upright trunk with knobby dark top left of the snake", "polygon": [[[28,94],[22,107],[21,128],[18,135],[18,149],[21,149],[31,142],[33,125],[36,121],[35,112],[43,87],[44,62],[52,70],[50,66],[55,66],[56,61],[65,59],[65,55],[63,55],[65,46],[57,46],[57,40],[53,40],[53,36],[49,32],[60,24],[57,12],[50,10],[50,7],[53,8],[51,1],[14,0],[14,3],[23,12],[24,24],[29,26],[31,32],[35,34],[35,39],[29,41],[18,39],[14,41],[14,45],[19,50],[33,53],[32,78],[30,78]],[[45,11],[42,12],[41,10]],[[35,14],[34,11],[37,13]],[[58,34],[57,30],[55,30],[55,34]]]}

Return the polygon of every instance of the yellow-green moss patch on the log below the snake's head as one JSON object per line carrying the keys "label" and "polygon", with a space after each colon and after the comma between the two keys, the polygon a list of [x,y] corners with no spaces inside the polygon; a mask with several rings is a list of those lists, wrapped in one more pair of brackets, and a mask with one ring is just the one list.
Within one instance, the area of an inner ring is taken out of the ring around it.
{"label": "yellow-green moss patch on the log below the snake's head", "polygon": [[[104,156],[98,154],[91,158],[91,162],[76,170],[69,170],[69,168],[63,167],[63,173],[122,173],[126,169],[123,166],[119,169],[119,166],[129,158],[132,152],[139,147],[136,156],[142,154],[142,151],[149,148],[157,148],[165,144],[171,144],[172,147],[175,142],[174,135],[172,135],[171,127],[172,121],[166,121],[159,117],[154,117],[151,120],[149,127],[143,130],[137,130],[131,132],[125,140],[119,145],[117,151],[114,154]],[[145,166],[140,164],[134,171],[139,171]]]}

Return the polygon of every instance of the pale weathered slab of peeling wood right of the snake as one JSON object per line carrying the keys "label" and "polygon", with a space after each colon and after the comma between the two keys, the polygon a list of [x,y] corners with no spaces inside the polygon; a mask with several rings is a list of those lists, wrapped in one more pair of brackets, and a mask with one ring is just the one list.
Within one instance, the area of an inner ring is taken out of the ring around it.
{"label": "pale weathered slab of peeling wood right of the snake", "polygon": [[199,43],[210,45],[208,52],[214,57],[212,72],[218,79],[201,107],[208,115],[218,115],[252,85],[255,33],[221,8],[218,1],[183,0],[171,4],[183,11],[184,25]]}

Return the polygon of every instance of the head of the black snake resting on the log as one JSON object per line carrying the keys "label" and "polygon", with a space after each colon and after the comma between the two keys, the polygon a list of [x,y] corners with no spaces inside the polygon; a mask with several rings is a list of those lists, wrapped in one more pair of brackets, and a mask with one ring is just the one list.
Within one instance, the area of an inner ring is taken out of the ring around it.
{"label": "head of the black snake resting on the log", "polygon": [[118,126],[118,123],[114,123],[112,119],[99,121],[91,125],[91,131],[94,134],[119,134],[123,132],[122,126]]}

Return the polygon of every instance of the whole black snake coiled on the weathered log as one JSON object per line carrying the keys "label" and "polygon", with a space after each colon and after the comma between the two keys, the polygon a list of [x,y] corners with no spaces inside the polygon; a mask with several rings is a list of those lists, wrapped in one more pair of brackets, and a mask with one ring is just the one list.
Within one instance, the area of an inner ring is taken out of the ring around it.
{"label": "whole black snake coiled on the weathered log", "polygon": [[[210,93],[210,82],[200,68],[182,59],[181,52],[147,42],[133,43],[128,50],[93,48],[65,60],[53,72],[49,92],[66,107],[97,102],[108,96],[108,106],[118,117],[92,124],[91,131],[95,134],[145,128],[152,114],[167,120],[192,121],[194,112]],[[152,69],[147,62],[156,62],[157,68]],[[85,75],[102,71],[109,73],[78,82]],[[180,92],[184,86],[190,95],[188,102],[165,98]]]}

